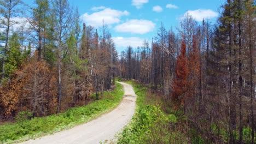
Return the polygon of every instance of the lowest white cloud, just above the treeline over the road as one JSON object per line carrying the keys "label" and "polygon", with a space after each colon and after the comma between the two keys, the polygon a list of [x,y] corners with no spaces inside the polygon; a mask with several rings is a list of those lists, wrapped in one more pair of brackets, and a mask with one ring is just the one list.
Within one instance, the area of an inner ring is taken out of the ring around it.
{"label": "lowest white cloud, just above the treeline over the road", "polygon": [[131,46],[133,48],[142,46],[144,43],[144,39],[138,38],[138,37],[113,37],[114,43],[117,47],[127,47]]}

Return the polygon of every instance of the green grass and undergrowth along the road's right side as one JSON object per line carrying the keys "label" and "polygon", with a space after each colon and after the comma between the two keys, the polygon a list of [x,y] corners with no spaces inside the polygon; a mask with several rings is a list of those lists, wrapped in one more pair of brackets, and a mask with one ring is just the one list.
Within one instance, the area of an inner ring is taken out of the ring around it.
{"label": "green grass and undergrowth along the road's right side", "polygon": [[[129,81],[137,94],[136,113],[122,133],[118,136],[118,143],[187,143],[186,135],[179,128],[179,119],[182,119],[173,111],[168,115],[148,88],[135,81]],[[155,103],[153,103],[155,101]],[[177,127],[177,128],[176,128]]]}

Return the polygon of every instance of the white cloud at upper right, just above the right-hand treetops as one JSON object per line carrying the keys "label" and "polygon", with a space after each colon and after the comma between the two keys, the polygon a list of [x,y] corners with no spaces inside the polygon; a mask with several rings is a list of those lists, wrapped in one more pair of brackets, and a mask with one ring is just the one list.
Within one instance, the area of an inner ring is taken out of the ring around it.
{"label": "white cloud at upper right, just above the right-hand treetops", "polygon": [[218,16],[218,13],[211,9],[197,9],[188,10],[184,16],[191,15],[196,21],[202,21],[203,19],[212,19]]}

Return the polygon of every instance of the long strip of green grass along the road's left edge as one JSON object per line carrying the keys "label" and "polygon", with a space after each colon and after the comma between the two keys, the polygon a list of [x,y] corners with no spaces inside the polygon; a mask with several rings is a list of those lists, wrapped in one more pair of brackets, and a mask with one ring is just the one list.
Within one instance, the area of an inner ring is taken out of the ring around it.
{"label": "long strip of green grass along the road's left edge", "polygon": [[53,134],[57,131],[89,122],[118,106],[123,95],[123,88],[117,83],[114,91],[104,92],[101,100],[94,101],[88,105],[73,107],[59,115],[35,117],[31,120],[21,122],[4,123],[0,125],[0,143],[14,143],[35,139],[39,136]]}

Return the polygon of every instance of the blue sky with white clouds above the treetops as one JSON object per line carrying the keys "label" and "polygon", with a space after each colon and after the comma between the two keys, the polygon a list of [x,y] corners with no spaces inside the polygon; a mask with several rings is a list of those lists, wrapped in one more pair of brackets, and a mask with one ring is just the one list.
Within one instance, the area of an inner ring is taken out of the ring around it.
{"label": "blue sky with white clouds above the treetops", "polygon": [[[202,22],[207,18],[216,22],[220,5],[225,0],[68,0],[79,9],[86,25],[101,29],[102,20],[112,33],[119,52],[127,46],[141,46],[151,41],[161,22],[166,29],[176,29],[185,14]],[[24,0],[33,4],[31,0]]]}

